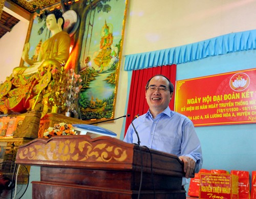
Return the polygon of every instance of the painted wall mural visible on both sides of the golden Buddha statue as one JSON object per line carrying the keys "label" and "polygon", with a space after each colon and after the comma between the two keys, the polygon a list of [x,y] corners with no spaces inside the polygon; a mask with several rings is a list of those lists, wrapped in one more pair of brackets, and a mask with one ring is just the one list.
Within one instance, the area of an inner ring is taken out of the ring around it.
{"label": "painted wall mural visible on both sides of the golden Buddha statue", "polygon": [[[65,69],[74,69],[82,78],[79,118],[113,118],[127,1],[65,2],[61,1],[57,8],[65,18],[63,30],[71,36],[71,52]],[[35,16],[30,27],[27,40],[31,45],[29,56],[33,59],[41,43],[51,36],[45,18],[44,14]]]}

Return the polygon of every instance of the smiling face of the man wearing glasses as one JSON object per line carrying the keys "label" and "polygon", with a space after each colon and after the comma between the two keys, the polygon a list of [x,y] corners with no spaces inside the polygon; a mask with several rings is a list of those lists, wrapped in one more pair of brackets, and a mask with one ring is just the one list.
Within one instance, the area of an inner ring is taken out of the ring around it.
{"label": "smiling face of the man wearing glasses", "polygon": [[[169,82],[166,78],[162,76],[153,77],[150,80],[148,86],[155,86],[155,87],[166,87],[167,90],[154,90],[154,89],[147,89],[145,92],[146,101],[148,106],[150,106],[150,110],[162,112],[168,105],[170,100],[173,97],[173,93],[170,94],[169,91]],[[154,88],[154,87],[153,87]]]}

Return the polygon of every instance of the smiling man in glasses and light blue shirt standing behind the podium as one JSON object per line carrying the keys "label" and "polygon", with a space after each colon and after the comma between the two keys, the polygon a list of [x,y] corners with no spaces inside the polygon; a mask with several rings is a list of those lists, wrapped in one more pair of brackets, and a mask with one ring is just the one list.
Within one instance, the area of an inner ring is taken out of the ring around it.
{"label": "smiling man in glasses and light blue shirt standing behind the podium", "polygon": [[[134,120],[127,129],[124,142],[137,143],[138,132],[142,146],[175,154],[184,163],[185,177],[199,172],[202,149],[193,122],[169,108],[174,85],[163,75],[156,75],[146,83],[145,97],[150,107],[146,114]],[[135,128],[135,129],[134,129]],[[182,185],[187,184],[185,178]]]}

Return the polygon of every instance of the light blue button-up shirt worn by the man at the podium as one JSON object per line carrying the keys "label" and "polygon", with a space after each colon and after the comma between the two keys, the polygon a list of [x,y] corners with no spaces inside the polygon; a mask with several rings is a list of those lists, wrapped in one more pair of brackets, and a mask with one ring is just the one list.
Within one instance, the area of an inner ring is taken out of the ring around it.
{"label": "light blue button-up shirt worn by the man at the podium", "polygon": [[[167,107],[155,119],[148,110],[146,114],[135,119],[133,124],[139,134],[141,146],[175,154],[178,157],[188,156],[196,162],[195,172],[199,172],[202,168],[201,144],[193,122],[186,116]],[[132,124],[127,129],[123,141],[127,143],[138,142]]]}

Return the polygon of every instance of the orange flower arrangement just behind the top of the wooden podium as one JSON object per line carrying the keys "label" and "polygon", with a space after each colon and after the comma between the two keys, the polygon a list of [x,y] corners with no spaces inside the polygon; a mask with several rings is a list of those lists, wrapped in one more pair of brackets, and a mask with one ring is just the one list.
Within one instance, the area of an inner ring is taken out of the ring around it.
{"label": "orange flower arrangement just behind the top of the wooden podium", "polygon": [[44,138],[51,138],[53,136],[72,136],[72,135],[76,135],[76,131],[74,130],[71,124],[66,124],[65,122],[54,124],[53,127],[49,127],[44,132]]}

